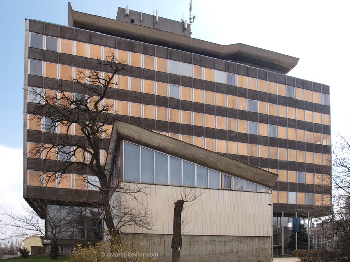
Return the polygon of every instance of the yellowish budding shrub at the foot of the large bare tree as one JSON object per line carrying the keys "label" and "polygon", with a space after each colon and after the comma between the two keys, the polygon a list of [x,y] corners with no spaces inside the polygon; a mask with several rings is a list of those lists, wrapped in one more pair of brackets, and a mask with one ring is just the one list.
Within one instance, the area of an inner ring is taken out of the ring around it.
{"label": "yellowish budding shrub at the foot of the large bare tree", "polygon": [[[125,256],[125,254],[135,254],[137,256]],[[69,262],[109,262],[109,261],[122,261],[122,262],[136,262],[136,261],[154,261],[155,258],[142,256],[147,251],[142,249],[141,237],[138,238],[134,235],[128,237],[120,237],[111,242],[97,243],[96,245],[89,245],[87,247],[77,246],[77,250],[74,251],[69,257]],[[110,254],[123,254],[118,257]]]}

